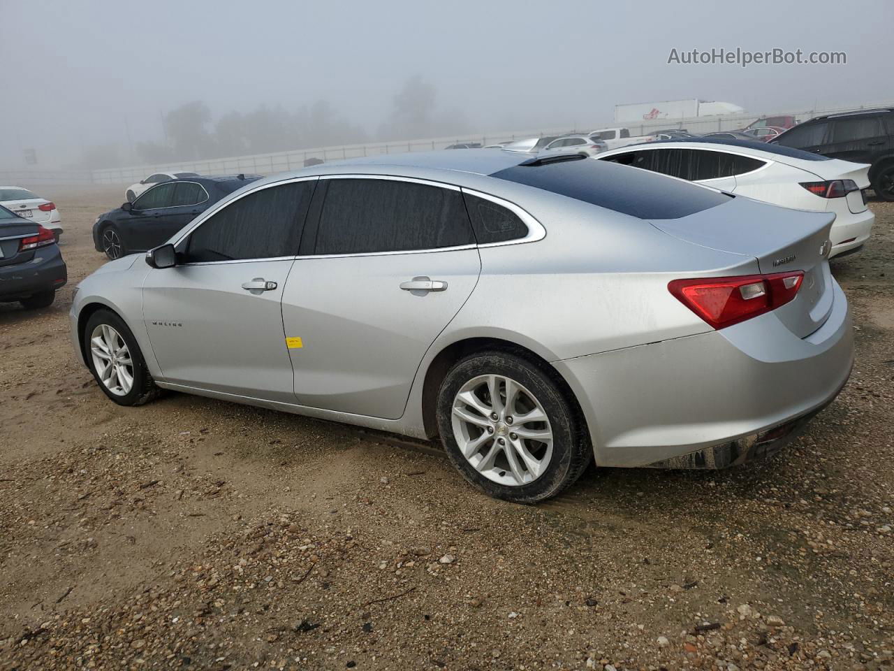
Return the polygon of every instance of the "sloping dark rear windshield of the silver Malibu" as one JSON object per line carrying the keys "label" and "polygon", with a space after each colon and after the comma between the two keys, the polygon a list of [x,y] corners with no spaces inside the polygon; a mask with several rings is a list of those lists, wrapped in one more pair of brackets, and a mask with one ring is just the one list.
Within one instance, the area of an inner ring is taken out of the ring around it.
{"label": "sloping dark rear windshield of the silver Malibu", "polygon": [[640,219],[688,217],[731,198],[661,174],[590,158],[541,166],[512,166],[491,176]]}

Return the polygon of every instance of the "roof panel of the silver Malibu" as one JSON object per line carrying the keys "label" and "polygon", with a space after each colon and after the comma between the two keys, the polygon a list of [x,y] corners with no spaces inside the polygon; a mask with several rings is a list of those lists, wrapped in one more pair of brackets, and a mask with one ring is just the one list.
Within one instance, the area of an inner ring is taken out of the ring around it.
{"label": "roof panel of the silver Malibu", "polygon": [[[327,166],[395,166],[458,170],[463,173],[493,174],[530,159],[530,154],[504,149],[451,149],[414,151],[406,154],[376,154],[370,157],[331,161]],[[314,166],[319,168],[321,166]]]}

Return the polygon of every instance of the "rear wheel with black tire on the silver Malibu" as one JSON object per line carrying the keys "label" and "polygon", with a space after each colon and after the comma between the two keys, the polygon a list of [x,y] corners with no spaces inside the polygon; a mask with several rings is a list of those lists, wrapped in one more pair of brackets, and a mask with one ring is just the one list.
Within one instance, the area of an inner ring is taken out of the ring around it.
{"label": "rear wheel with black tire on the silver Malibu", "polygon": [[448,371],[438,429],[468,482],[489,496],[531,504],[578,480],[593,453],[557,377],[502,351],[470,355]]}

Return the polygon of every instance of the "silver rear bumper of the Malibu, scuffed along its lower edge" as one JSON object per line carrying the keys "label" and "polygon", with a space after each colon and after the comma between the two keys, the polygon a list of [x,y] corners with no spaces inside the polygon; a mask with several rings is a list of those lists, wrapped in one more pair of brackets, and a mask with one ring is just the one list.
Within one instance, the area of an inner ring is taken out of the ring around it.
{"label": "silver rear bumper of the Malibu, scuffed along its lower edge", "polygon": [[829,319],[806,338],[770,312],[553,363],[586,415],[596,463],[718,468],[778,449],[850,375],[853,327],[844,293],[833,290]]}

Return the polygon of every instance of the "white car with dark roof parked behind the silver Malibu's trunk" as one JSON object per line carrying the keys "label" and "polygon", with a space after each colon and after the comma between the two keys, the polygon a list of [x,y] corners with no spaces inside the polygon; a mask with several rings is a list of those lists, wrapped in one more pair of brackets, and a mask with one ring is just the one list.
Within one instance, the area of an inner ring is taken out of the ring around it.
{"label": "white car with dark roof parked behind the silver Malibu's trunk", "polygon": [[830,257],[856,251],[875,222],[866,207],[869,166],[750,140],[658,141],[596,157],[669,174],[783,208],[832,212]]}

